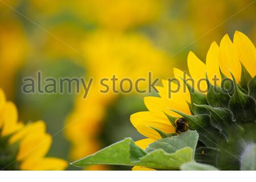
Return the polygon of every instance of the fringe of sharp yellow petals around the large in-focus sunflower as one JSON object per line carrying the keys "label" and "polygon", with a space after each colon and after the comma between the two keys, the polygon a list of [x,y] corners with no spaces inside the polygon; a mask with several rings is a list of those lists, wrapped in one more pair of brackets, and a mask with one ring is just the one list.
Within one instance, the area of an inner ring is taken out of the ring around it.
{"label": "fringe of sharp yellow petals around the large in-focus sunflower", "polygon": [[[216,86],[221,85],[221,80],[223,80],[224,77],[232,78],[235,82],[238,82],[240,89],[247,93],[247,84],[243,84],[241,77],[245,74],[245,71],[248,77],[255,77],[256,50],[253,43],[246,35],[236,31],[233,42],[228,35],[225,35],[220,42],[220,46],[218,46],[216,42],[210,45],[205,64],[193,52],[189,52],[187,63],[190,77],[185,72],[174,68],[175,78],[179,80],[180,88],[186,88],[185,90],[179,89],[177,93],[171,93],[171,97],[169,97],[168,81],[162,80],[163,86],[158,87],[160,97],[144,98],[144,104],[148,111],[141,111],[131,115],[131,123],[136,127],[139,133],[147,137],[147,139],[137,142],[138,146],[141,148],[146,148],[148,144],[162,138],[155,129],[163,131],[164,133],[176,132],[175,123],[171,124],[170,117],[189,118],[189,115],[198,114],[192,112],[193,109],[191,109],[191,107],[195,104],[195,100],[192,101],[192,96],[188,90],[189,86],[187,84],[184,85],[184,80],[181,79],[184,78],[184,75],[186,78],[193,78],[195,85],[200,85],[200,89],[198,86],[194,86],[193,89],[204,95],[206,93],[202,90],[207,89],[208,84],[214,84],[214,77],[218,79]],[[209,83],[206,79],[204,82],[200,81],[201,78],[208,78]],[[172,83],[171,90],[175,90],[176,88],[177,84]],[[207,102],[210,102],[209,98]],[[253,103],[251,107],[253,108]],[[232,108],[230,109],[232,110]],[[241,120],[240,116],[236,113],[233,112],[233,115],[237,122]],[[140,168],[136,167],[135,169]]]}

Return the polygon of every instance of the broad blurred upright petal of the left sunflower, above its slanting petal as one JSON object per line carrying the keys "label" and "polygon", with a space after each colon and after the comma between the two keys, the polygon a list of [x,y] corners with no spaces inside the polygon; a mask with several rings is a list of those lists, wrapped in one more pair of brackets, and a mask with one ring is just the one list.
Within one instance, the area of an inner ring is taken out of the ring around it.
{"label": "broad blurred upright petal of the left sunflower, above its slanting petal", "polygon": [[20,125],[18,125],[18,111],[13,102],[6,102],[5,108],[3,110],[3,129],[2,135],[9,135],[18,130]]}

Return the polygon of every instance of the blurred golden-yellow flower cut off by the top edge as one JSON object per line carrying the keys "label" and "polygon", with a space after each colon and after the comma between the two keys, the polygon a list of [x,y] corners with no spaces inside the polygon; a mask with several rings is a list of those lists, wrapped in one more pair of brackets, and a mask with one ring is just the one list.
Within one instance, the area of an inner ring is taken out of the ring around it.
{"label": "blurred golden-yellow flower cut off by the top edge", "polygon": [[163,0],[77,0],[75,9],[108,30],[126,30],[152,22],[163,12]]}

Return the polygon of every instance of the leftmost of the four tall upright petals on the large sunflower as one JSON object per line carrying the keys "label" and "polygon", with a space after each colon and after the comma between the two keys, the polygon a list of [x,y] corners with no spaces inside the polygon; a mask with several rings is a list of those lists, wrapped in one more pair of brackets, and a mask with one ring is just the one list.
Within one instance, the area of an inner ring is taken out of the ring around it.
{"label": "leftmost of the four tall upright petals on the large sunflower", "polygon": [[[199,91],[206,92],[207,82],[205,81],[206,67],[205,64],[198,59],[198,57],[193,53],[188,53],[188,70],[195,81],[194,88]],[[204,80],[203,80],[204,79]]]}

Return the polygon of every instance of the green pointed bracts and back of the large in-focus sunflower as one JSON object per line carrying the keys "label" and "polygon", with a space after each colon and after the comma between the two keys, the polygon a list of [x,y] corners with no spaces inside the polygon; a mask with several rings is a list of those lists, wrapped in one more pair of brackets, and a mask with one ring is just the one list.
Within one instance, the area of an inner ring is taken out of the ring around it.
{"label": "green pointed bracts and back of the large in-focus sunflower", "polygon": [[199,133],[196,162],[221,170],[255,170],[256,77],[249,78],[245,73],[241,78],[243,88],[233,78],[234,89],[229,93],[209,82],[206,95],[192,93],[188,86],[195,115],[175,112],[187,119],[191,130]]}

